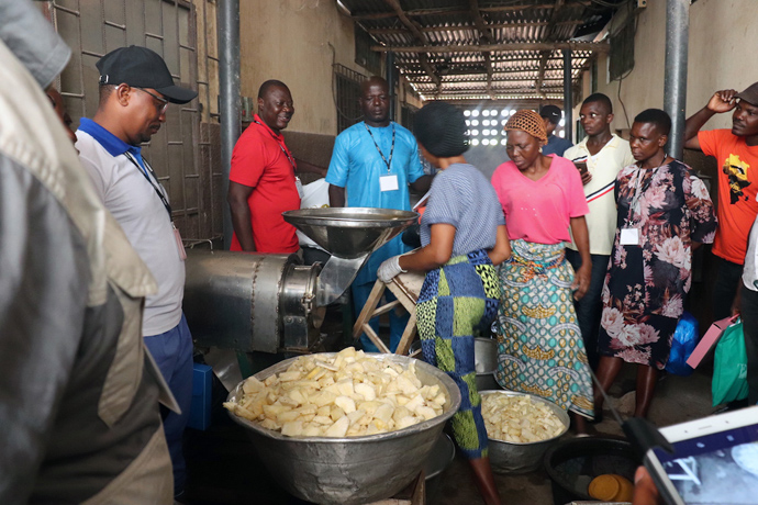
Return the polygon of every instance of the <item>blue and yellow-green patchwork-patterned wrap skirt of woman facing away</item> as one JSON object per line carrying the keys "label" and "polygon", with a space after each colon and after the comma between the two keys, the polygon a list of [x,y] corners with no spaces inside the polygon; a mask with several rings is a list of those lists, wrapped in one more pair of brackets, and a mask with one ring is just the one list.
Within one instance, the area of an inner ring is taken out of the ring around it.
{"label": "blue and yellow-green patchwork-patterned wrap skirt of woman facing away", "polygon": [[460,389],[453,435],[469,459],[487,456],[487,430],[477,391],[473,339],[487,335],[498,312],[498,274],[484,250],[450,258],[426,273],[416,303],[424,360],[446,372]]}

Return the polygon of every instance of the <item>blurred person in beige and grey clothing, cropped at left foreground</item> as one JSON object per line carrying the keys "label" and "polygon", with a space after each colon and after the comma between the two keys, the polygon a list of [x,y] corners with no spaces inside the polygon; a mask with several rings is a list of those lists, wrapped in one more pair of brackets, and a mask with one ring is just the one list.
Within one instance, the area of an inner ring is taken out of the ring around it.
{"label": "blurred person in beige and grey clothing, cropped at left foreground", "polygon": [[43,89],[70,49],[0,0],[0,503],[171,503],[140,332],[156,287]]}

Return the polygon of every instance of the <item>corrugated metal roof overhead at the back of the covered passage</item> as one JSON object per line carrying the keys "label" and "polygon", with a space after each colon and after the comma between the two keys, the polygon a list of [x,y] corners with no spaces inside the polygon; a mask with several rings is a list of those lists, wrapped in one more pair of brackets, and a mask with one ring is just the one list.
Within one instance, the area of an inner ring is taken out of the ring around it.
{"label": "corrugated metal roof overhead at the back of the covered passage", "polygon": [[627,0],[336,0],[374,50],[395,55],[424,100],[561,101],[564,49],[575,83],[593,42]]}

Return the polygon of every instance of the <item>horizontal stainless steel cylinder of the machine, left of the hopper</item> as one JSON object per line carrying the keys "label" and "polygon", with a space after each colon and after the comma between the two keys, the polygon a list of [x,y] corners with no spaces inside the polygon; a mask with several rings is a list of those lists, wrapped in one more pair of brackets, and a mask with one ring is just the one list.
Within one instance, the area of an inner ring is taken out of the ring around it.
{"label": "horizontal stainless steel cylinder of the machine, left of the hopper", "polygon": [[321,266],[296,255],[187,251],[185,314],[199,346],[306,351],[317,338]]}

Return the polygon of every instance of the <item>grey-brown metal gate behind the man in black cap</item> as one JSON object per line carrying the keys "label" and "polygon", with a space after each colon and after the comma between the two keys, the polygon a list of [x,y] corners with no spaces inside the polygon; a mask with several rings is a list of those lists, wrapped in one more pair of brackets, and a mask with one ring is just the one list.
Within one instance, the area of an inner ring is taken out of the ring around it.
{"label": "grey-brown metal gate behind the man in black cap", "polygon": [[[155,50],[166,60],[177,85],[200,91],[200,98],[188,104],[169,105],[166,124],[144,146],[144,155],[168,191],[182,236],[201,239],[219,235],[223,203],[216,179],[221,173],[214,173],[218,164],[213,162],[211,146],[212,123],[218,117],[215,1],[51,0],[44,10],[74,53],[58,88],[75,125],[97,111],[99,74],[94,63],[125,45]],[[200,23],[198,15],[202,16]],[[211,15],[212,23],[208,23]],[[199,25],[204,31],[200,50]],[[212,38],[211,47],[208,38]],[[198,75],[199,60],[202,76]],[[201,120],[205,123],[202,135]]]}

